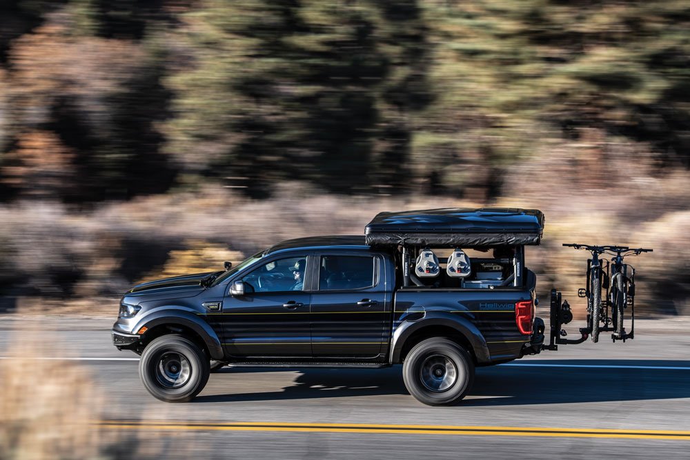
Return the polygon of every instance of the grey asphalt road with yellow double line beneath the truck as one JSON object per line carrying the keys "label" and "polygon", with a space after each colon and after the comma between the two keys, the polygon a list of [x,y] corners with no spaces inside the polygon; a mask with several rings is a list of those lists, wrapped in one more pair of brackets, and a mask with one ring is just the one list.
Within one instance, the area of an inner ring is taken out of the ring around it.
{"label": "grey asphalt road with yellow double line beneath the truck", "polygon": [[13,329],[52,331],[52,357],[88,366],[106,394],[110,428],[186,436],[198,458],[690,458],[690,319],[638,321],[627,343],[480,368],[450,408],[415,401],[400,366],[224,368],[192,403],[163,403],[141,385],[137,356],[110,344],[111,323],[2,317],[0,355]]}

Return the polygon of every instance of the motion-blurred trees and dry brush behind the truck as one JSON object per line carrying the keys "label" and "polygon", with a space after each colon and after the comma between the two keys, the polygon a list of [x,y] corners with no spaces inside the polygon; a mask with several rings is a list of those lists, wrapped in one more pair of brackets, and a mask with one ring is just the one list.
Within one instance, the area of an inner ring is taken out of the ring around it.
{"label": "motion-blurred trees and dry brush behind the truck", "polygon": [[0,1],[0,311],[517,206],[542,292],[584,280],[560,243],[636,244],[690,314],[689,168],[687,1]]}

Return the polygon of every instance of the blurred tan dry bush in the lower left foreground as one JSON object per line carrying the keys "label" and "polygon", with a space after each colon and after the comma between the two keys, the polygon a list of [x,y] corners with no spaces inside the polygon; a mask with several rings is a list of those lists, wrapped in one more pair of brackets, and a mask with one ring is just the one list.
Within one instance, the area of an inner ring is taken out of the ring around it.
{"label": "blurred tan dry bush in the lower left foreground", "polygon": [[108,431],[97,424],[105,415],[103,393],[75,361],[44,359],[60,353],[54,337],[25,330],[21,340],[19,332],[13,335],[15,345],[5,353],[17,358],[0,360],[0,458],[146,459],[165,453],[152,452],[163,443],[148,432]]}

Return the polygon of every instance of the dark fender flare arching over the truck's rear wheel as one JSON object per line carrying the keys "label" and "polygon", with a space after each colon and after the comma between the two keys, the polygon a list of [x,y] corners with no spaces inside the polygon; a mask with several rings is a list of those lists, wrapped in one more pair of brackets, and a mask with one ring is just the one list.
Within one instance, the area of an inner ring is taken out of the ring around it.
{"label": "dark fender flare arching over the truck's rear wheel", "polygon": [[400,363],[402,348],[405,345],[405,341],[418,330],[429,326],[446,326],[455,329],[470,343],[472,347],[471,351],[474,352],[477,363],[491,362],[489,346],[486,344],[486,339],[484,339],[482,332],[477,329],[477,326],[468,319],[459,316],[457,313],[454,314],[444,311],[426,311],[424,318],[419,321],[403,321],[393,333],[390,362]]}

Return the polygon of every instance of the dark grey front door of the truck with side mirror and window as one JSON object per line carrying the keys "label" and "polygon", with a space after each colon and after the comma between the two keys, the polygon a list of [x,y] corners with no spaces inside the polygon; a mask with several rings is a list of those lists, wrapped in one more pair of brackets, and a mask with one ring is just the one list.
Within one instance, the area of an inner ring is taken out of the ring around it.
{"label": "dark grey front door of the truck with side mirror and window", "polygon": [[[311,357],[310,294],[304,256],[273,259],[246,274],[244,296],[226,292],[221,318],[224,347],[234,357]],[[229,287],[228,287],[229,291]]]}

